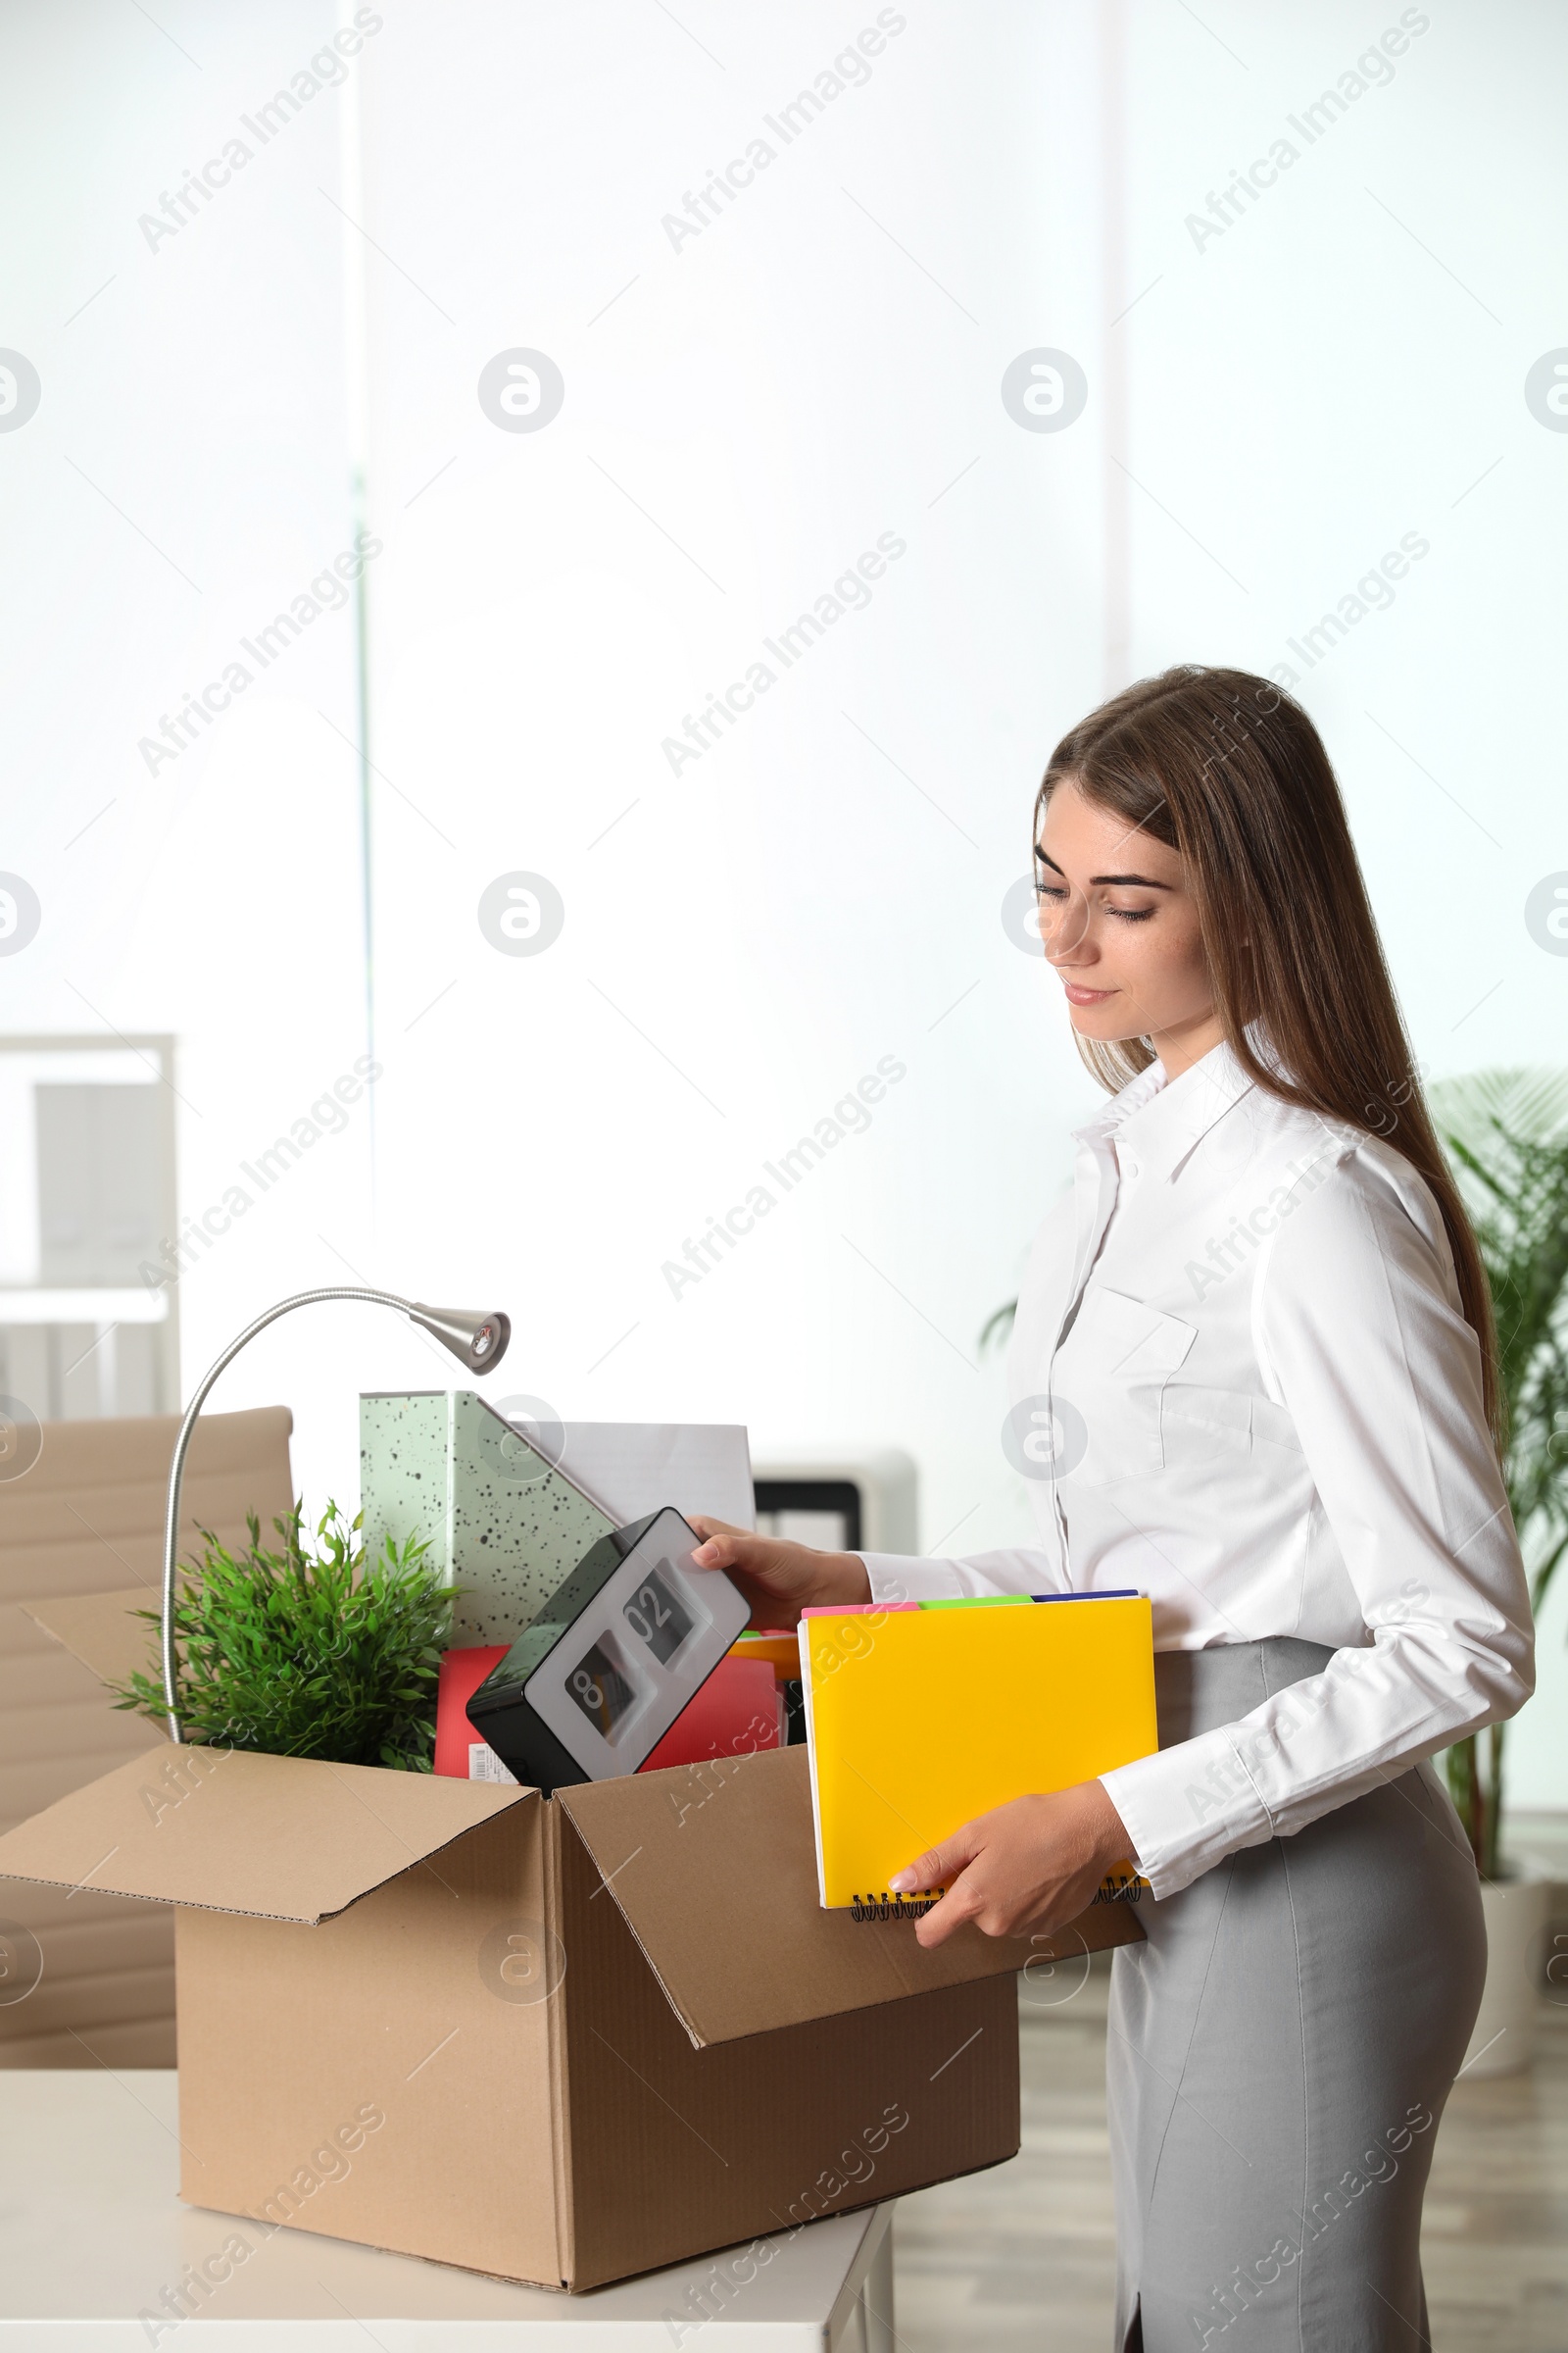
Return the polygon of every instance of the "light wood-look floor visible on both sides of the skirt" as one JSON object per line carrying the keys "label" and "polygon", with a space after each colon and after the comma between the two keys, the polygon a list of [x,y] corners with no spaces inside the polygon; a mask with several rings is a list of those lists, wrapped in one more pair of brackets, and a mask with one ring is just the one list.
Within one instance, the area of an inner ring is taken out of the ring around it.
{"label": "light wood-look floor visible on both sides of the skirt", "polygon": [[[1023,2151],[900,2202],[903,2353],[1110,2353],[1105,1988],[1023,2005]],[[1436,2353],[1568,2353],[1568,2007],[1528,2075],[1455,2085],[1422,2264]]]}

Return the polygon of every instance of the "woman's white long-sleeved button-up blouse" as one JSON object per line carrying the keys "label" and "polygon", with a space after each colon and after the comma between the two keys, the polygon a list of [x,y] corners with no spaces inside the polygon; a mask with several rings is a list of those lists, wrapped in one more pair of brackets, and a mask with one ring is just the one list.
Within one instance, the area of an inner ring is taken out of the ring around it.
{"label": "woman's white long-sleeved button-up blouse", "polygon": [[1077,1129],[1009,1351],[1039,1551],[867,1553],[872,1598],[1135,1588],[1157,1649],[1298,1635],[1321,1675],[1107,1772],[1154,1897],[1533,1689],[1530,1607],[1439,1207],[1220,1045]]}

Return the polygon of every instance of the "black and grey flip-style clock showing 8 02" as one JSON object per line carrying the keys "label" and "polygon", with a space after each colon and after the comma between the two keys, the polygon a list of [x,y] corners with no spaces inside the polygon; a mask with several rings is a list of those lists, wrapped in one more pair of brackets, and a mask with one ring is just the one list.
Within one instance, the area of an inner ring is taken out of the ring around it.
{"label": "black and grey flip-style clock showing 8 02", "polygon": [[529,1788],[637,1772],[701,1692],[750,1609],[665,1506],[602,1537],[468,1701]]}

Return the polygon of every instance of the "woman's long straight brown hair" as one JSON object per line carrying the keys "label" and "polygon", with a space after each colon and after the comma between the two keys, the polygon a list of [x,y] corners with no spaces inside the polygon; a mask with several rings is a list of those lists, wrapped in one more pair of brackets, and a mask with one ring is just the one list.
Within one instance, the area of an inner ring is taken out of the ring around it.
{"label": "woman's long straight brown hair", "polygon": [[[1432,1188],[1465,1320],[1481,1344],[1486,1419],[1502,1440],[1497,1334],[1486,1271],[1420,1089],[1378,925],[1324,739],[1251,671],[1182,664],[1079,720],[1051,753],[1051,793],[1086,800],[1180,852],[1199,911],[1215,1009],[1253,1085],[1389,1136]],[[1262,1059],[1248,1024],[1267,1047]],[[1154,1061],[1143,1038],[1079,1038],[1103,1087]]]}

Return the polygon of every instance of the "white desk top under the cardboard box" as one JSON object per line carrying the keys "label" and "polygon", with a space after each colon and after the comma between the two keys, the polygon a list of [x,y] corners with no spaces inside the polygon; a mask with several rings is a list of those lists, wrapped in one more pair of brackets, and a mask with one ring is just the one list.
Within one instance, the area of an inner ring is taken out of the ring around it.
{"label": "white desk top under the cardboard box", "polygon": [[[216,2214],[174,2195],[174,2073],[0,2071],[0,2353],[146,2353],[139,2315],[221,2245]],[[893,2207],[816,2221],[691,2353],[893,2353]],[[670,2353],[665,2313],[724,2271],[677,2264],[564,2297],[475,2271],[277,2231],[212,2299],[158,2332],[165,2353]]]}

